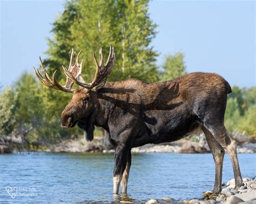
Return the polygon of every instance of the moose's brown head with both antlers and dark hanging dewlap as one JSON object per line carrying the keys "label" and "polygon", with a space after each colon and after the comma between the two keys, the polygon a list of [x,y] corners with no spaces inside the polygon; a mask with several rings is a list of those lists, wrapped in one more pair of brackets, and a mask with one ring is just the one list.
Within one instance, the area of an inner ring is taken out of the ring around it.
{"label": "moose's brown head with both antlers and dark hanging dewlap", "polygon": [[[94,130],[94,121],[93,111],[96,108],[97,104],[97,91],[105,85],[107,77],[110,75],[115,59],[114,48],[110,45],[109,58],[107,59],[106,64],[104,65],[104,58],[102,54],[102,48],[99,50],[100,54],[100,64],[93,53],[93,58],[96,64],[96,73],[91,83],[85,83],[84,79],[81,76],[83,60],[78,63],[79,56],[81,51],[78,53],[76,60],[74,61],[74,52],[73,48],[70,53],[70,63],[69,68],[62,66],[63,71],[66,75],[65,86],[59,85],[56,81],[56,72],[53,73],[52,78],[46,71],[43,66],[41,58],[39,58],[40,65],[43,69],[44,76],[41,75],[39,70],[33,67],[35,74],[39,81],[43,85],[62,90],[63,92],[73,93],[72,100],[62,112],[62,122],[61,126],[63,128],[72,128],[78,123],[79,128],[82,128],[86,132],[86,139],[93,139],[93,130]],[[73,84],[76,83],[79,85],[79,88],[72,89]]]}

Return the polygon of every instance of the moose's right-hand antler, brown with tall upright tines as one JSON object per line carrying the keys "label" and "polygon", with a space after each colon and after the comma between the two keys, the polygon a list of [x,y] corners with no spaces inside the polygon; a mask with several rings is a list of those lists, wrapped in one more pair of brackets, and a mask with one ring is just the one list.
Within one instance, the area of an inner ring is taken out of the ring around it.
{"label": "moose's right-hand antler, brown with tall upright tines", "polygon": [[96,64],[96,73],[95,73],[95,77],[91,83],[83,82],[81,80],[82,79],[81,77],[75,78],[73,73],[70,70],[68,70],[64,66],[62,66],[64,69],[65,75],[68,78],[70,78],[73,82],[77,83],[77,85],[87,88],[87,89],[92,89],[94,87],[97,87],[97,88],[103,87],[105,85],[107,77],[110,75],[110,73],[113,69],[114,59],[116,58],[116,55],[114,53],[114,48],[110,45],[109,58],[107,59],[107,62],[104,65],[102,48],[100,48],[99,54],[100,54],[100,65],[98,64],[98,61],[95,57],[95,53],[93,53],[93,58],[94,58],[95,64]]}

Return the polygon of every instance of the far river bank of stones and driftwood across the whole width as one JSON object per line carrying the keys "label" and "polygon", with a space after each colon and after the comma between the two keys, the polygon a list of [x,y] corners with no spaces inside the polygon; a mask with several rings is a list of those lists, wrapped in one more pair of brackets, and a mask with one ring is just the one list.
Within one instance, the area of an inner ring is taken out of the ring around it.
{"label": "far river bank of stones and driftwood across the whole width", "polygon": [[[241,133],[235,133],[233,138],[237,140],[238,153],[255,153],[255,140],[248,139]],[[0,153],[12,153],[21,151],[35,152],[113,152],[113,146],[110,144],[108,137],[95,138],[92,142],[87,142],[83,137],[76,139],[61,140],[57,144],[40,144],[32,142],[24,145],[19,138],[11,138],[16,143],[15,147],[11,145],[0,144]],[[18,142],[17,142],[18,141]],[[18,145],[17,145],[18,144]],[[190,136],[180,139],[176,142],[161,144],[146,144],[140,147],[132,148],[133,153],[146,152],[174,152],[174,153],[210,153],[204,133],[199,136]]]}

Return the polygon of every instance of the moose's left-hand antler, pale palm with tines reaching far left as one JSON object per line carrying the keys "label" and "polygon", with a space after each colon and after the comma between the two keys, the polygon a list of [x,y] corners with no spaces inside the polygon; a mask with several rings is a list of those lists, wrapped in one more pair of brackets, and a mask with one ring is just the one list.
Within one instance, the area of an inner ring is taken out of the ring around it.
{"label": "moose's left-hand antler, pale palm with tines reaching far left", "polygon": [[[81,53],[81,51],[77,55],[75,64],[73,64],[74,51],[73,51],[73,48],[72,48],[71,53],[70,53],[69,73],[72,73],[73,76],[76,76],[75,79],[83,81],[82,77],[80,76],[80,74],[82,72],[83,60],[80,63],[80,65],[78,64],[78,58],[79,58],[80,53]],[[46,71],[46,69],[45,69],[45,67],[43,65],[41,57],[39,57],[39,61],[40,61],[40,65],[41,65],[41,67],[43,69],[44,76],[42,76],[41,73],[39,72],[39,70],[38,69],[36,70],[35,67],[33,67],[33,69],[34,69],[34,72],[35,72],[37,78],[39,79],[39,81],[41,81],[43,83],[43,85],[45,85],[47,87],[50,87],[50,88],[53,88],[53,89],[62,90],[63,92],[68,92],[68,93],[73,93],[74,92],[75,89],[71,89],[72,86],[73,86],[73,83],[74,83],[72,80],[70,80],[67,77],[66,78],[65,86],[61,86],[56,81],[56,78],[55,78],[57,69],[53,73],[52,79],[51,79],[50,75],[48,74],[48,72]]]}

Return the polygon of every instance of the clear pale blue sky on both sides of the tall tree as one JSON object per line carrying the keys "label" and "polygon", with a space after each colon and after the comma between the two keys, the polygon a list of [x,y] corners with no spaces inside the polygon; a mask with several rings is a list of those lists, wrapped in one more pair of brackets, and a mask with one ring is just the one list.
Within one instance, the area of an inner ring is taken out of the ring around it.
{"label": "clear pale blue sky on both sides of the tall tree", "polygon": [[[1,0],[0,0],[1,1]],[[1,1],[0,85],[12,85],[38,66],[51,23],[64,1]],[[158,25],[152,45],[160,53],[184,52],[188,72],[214,72],[231,86],[255,86],[254,1],[152,1]]]}

